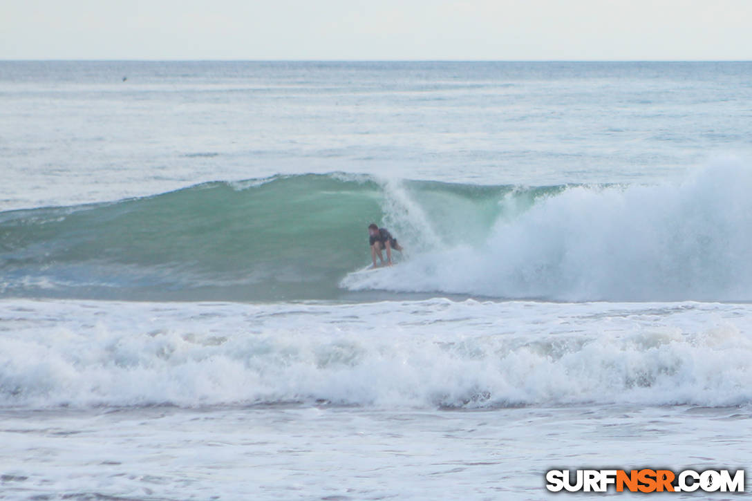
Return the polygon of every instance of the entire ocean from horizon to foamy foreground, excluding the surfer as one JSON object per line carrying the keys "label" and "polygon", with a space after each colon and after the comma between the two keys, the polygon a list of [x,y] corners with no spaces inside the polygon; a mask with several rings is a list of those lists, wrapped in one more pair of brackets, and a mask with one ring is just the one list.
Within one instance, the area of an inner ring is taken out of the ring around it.
{"label": "entire ocean from horizon to foamy foreground, excluding the surfer", "polygon": [[752,460],[752,62],[6,61],[0,117],[0,499]]}

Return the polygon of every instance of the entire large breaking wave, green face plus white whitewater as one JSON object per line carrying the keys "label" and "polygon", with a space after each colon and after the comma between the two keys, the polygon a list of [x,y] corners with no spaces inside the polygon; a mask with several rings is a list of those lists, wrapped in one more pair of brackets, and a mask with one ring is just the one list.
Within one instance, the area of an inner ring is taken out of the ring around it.
{"label": "entire large breaking wave, green face plus white whitewater", "polygon": [[[0,213],[0,296],[280,301],[456,295],[752,300],[752,170],[511,187],[344,174]],[[368,223],[402,264],[371,261]]]}

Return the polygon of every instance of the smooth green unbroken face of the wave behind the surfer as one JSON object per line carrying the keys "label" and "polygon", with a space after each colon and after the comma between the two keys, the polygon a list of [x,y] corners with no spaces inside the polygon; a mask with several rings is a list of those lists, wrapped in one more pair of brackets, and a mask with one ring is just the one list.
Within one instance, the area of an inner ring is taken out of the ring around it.
{"label": "smooth green unbroken face of the wave behind the surfer", "polygon": [[368,223],[414,250],[480,241],[505,193],[511,187],[296,175],[5,212],[0,296],[335,299],[345,293],[338,281],[370,261]]}

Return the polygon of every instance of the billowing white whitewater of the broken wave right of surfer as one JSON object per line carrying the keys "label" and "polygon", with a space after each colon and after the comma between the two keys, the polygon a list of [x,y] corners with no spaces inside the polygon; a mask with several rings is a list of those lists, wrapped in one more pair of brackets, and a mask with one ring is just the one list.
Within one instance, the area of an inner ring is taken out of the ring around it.
{"label": "billowing white whitewater of the broken wave right of surfer", "polygon": [[481,244],[450,239],[399,273],[343,284],[506,299],[750,300],[749,193],[752,175],[738,165],[681,184],[562,187],[499,217]]}

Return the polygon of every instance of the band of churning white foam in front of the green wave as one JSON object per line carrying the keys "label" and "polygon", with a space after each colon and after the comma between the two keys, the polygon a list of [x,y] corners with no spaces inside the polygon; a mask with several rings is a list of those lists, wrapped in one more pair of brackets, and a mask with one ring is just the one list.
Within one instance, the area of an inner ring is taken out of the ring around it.
{"label": "band of churning white foam in front of the green wave", "polygon": [[752,399],[748,305],[0,302],[2,406]]}

